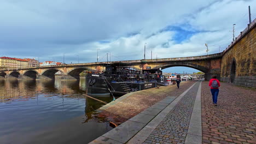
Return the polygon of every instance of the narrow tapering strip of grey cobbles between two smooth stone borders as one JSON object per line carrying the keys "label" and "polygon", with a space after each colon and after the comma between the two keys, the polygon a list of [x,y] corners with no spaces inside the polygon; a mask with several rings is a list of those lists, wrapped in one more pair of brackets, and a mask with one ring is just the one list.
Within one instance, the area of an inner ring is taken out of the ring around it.
{"label": "narrow tapering strip of grey cobbles between two smooth stone borders", "polygon": [[199,84],[184,95],[144,143],[185,143]]}

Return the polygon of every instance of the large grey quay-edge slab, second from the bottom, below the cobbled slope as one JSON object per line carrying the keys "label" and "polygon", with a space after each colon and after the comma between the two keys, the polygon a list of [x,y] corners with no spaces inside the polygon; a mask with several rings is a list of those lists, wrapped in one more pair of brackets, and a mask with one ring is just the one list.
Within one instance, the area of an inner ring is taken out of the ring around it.
{"label": "large grey quay-edge slab, second from the bottom, below the cobbled slope", "polygon": [[128,120],[102,136],[125,143],[130,140],[132,136],[138,133],[138,131],[141,130],[145,125],[146,124]]}

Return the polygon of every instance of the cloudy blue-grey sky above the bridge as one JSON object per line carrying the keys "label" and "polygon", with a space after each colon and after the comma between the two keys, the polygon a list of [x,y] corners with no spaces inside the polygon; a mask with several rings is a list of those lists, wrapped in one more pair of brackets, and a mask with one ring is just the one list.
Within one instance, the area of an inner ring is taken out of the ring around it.
{"label": "cloudy blue-grey sky above the bridge", "polygon": [[0,56],[84,63],[99,49],[100,62],[143,59],[145,43],[146,58],[206,55],[206,43],[217,53],[234,23],[235,36],[246,28],[248,5],[254,20],[256,0],[0,0]]}

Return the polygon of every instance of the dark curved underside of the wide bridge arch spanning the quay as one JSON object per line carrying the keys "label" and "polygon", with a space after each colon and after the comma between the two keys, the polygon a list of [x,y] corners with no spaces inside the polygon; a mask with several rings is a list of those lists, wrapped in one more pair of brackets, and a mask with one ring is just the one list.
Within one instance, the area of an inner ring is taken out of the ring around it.
{"label": "dark curved underside of the wide bridge arch spanning the quay", "polygon": [[162,65],[158,65],[157,67],[154,67],[153,69],[166,69],[166,68],[170,68],[170,67],[189,67],[189,68],[194,68],[197,70],[202,71],[203,73],[207,73],[208,72],[208,68],[203,67],[201,65],[198,64],[194,64],[194,63],[174,63],[174,64],[162,64]]}

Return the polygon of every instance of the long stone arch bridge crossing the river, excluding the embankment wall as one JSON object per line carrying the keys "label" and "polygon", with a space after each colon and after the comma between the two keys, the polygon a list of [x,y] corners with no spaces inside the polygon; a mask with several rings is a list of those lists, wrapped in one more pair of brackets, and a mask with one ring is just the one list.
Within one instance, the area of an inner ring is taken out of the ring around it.
{"label": "long stone arch bridge crossing the river, excluding the embankment wall", "polygon": [[[216,53],[213,55],[196,57],[142,59],[133,61],[115,61],[111,63],[129,63],[132,65],[133,69],[137,70],[165,69],[168,67],[184,66],[200,70],[203,73],[206,73],[206,77],[210,77],[213,74],[220,76],[221,58],[222,53]],[[82,73],[82,71],[102,69],[104,67],[103,64],[106,64],[106,62],[0,70],[0,77],[9,79],[54,79],[56,76],[55,74],[59,71],[57,74],[60,74],[59,77],[61,79],[79,79],[79,74]]]}

